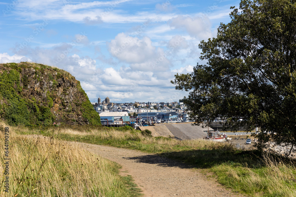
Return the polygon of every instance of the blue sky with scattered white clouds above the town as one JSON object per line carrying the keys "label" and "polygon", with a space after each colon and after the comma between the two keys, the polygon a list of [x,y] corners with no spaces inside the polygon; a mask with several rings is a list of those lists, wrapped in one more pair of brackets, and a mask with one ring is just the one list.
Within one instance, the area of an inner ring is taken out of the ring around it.
{"label": "blue sky with scattered white clouds above the town", "polygon": [[172,102],[174,74],[200,61],[201,40],[230,22],[240,1],[1,1],[0,63],[32,61],[70,72],[91,102]]}

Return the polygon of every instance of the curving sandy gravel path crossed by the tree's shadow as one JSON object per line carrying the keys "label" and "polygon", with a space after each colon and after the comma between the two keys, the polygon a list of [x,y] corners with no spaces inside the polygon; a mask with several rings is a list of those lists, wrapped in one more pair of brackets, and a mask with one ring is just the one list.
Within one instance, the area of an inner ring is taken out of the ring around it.
{"label": "curving sandy gravel path crossed by the tree's shadow", "polygon": [[215,178],[207,178],[201,170],[175,160],[131,149],[77,144],[120,164],[120,175],[131,175],[144,196],[243,196],[223,188]]}

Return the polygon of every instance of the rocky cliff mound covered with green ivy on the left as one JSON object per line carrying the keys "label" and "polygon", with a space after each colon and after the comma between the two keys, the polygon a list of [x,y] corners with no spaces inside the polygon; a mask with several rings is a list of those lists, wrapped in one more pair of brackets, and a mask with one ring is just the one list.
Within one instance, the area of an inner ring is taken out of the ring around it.
{"label": "rocky cliff mound covered with green ivy on the left", "polygon": [[12,125],[100,125],[80,82],[36,63],[0,64],[0,116]]}

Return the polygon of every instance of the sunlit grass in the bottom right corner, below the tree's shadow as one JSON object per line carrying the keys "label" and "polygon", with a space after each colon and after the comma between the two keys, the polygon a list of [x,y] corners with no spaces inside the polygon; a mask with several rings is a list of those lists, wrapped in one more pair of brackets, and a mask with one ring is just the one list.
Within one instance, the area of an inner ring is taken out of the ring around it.
{"label": "sunlit grass in the bottom right corner, below the tree's shadow", "polygon": [[296,196],[296,168],[293,163],[264,154],[261,167],[252,168],[239,163],[223,163],[212,170],[220,183],[252,196]]}

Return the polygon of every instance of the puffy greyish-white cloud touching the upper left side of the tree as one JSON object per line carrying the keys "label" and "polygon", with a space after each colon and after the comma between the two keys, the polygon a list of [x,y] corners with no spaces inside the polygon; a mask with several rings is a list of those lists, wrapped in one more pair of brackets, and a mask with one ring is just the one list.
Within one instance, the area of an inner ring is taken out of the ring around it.
{"label": "puffy greyish-white cloud touching the upper left side of the tree", "polygon": [[212,31],[210,29],[210,20],[206,17],[192,18],[179,15],[178,17],[170,19],[168,23],[170,27],[185,29],[189,35],[194,38],[207,40],[208,38],[213,37]]}

